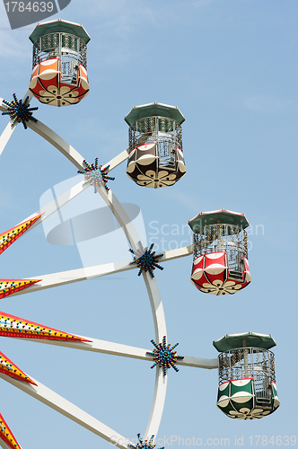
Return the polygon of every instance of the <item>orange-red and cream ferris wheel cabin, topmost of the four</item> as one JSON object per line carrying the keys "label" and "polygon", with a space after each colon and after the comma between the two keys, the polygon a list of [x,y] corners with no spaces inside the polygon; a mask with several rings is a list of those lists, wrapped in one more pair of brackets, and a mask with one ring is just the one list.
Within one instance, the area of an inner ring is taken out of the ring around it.
{"label": "orange-red and cream ferris wheel cabin, topmost of the four", "polygon": [[67,106],[89,92],[87,43],[89,34],[78,23],[61,19],[39,23],[29,39],[33,43],[29,88],[42,103]]}

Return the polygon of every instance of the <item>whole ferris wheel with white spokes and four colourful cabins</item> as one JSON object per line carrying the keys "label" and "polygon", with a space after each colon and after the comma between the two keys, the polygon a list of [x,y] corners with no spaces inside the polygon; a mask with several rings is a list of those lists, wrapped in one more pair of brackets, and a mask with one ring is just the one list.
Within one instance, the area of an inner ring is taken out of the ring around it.
{"label": "whole ferris wheel with white spokes and four colourful cabins", "polygon": [[[275,360],[270,348],[275,346],[271,335],[246,332],[225,335],[214,342],[220,355],[215,359],[187,357],[177,354],[178,343],[168,342],[162,297],[154,277],[155,269],[169,260],[193,255],[191,282],[206,294],[232,295],[250,284],[247,233],[249,222],[244,214],[226,209],[200,213],[188,222],[194,233],[192,245],[156,254],[153,244],[148,248],[141,242],[136,227],[125,208],[110,189],[114,180],[110,172],[127,161],[127,176],[137,185],[159,189],[170,187],[186,174],[182,149],[181,125],[184,117],[177,107],[158,102],[136,106],[125,118],[129,126],[129,146],[110,162],[99,165],[87,162],[73,146],[52,129],[33,117],[31,98],[41,103],[63,107],[83,100],[89,93],[87,49],[90,40],[82,25],[62,20],[39,23],[30,36],[33,44],[33,67],[29,90],[22,100],[13,93],[13,101],[0,98],[0,110],[10,117],[0,137],[0,154],[18,123],[46,139],[74,164],[84,175],[73,188],[56,200],[41,207],[8,231],[0,234],[0,253],[5,251],[23,233],[29,232],[92,187],[110,208],[122,228],[133,260],[73,269],[39,277],[0,279],[0,298],[38,292],[45,288],[103,277],[121,271],[137,269],[142,276],[153,313],[153,348],[135,348],[89,336],[69,334],[48,325],[0,313],[0,336],[19,339],[39,339],[40,342],[132,357],[151,362],[156,367],[153,404],[144,434],[136,429],[138,442],[133,445],[126,436],[79,409],[74,404],[48,389],[38,380],[22,372],[13,361],[0,353],[0,376],[33,398],[79,425],[91,430],[119,448],[153,448],[165,402],[168,370],[178,371],[179,365],[203,369],[219,369],[217,406],[230,418],[262,418],[279,406],[276,391]],[[116,183],[115,183],[116,184]],[[116,184],[117,185],[117,184]],[[0,410],[1,413],[1,410]],[[0,415],[0,445],[4,449],[21,448]]]}

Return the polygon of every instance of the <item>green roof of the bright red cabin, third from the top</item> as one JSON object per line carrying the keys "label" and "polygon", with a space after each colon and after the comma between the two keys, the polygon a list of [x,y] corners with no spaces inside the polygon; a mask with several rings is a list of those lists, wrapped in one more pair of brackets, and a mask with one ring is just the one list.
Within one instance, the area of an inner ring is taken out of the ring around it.
{"label": "green roof of the bright red cabin, third from the top", "polygon": [[221,209],[213,210],[211,212],[200,212],[192,220],[188,221],[188,225],[196,232],[205,225],[237,225],[245,229],[250,224],[244,214],[232,212],[231,210]]}

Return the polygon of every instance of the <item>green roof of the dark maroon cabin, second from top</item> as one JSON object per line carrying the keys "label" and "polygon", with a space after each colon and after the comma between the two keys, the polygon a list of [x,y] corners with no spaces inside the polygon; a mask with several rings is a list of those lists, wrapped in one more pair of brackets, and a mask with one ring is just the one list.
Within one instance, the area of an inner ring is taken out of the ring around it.
{"label": "green roof of the dark maroon cabin, second from top", "polygon": [[124,118],[129,126],[139,119],[145,119],[146,117],[167,117],[168,119],[176,120],[180,125],[184,122],[185,118],[181,114],[177,106],[170,106],[169,104],[148,103],[141,104],[140,106],[134,106],[127,116]]}

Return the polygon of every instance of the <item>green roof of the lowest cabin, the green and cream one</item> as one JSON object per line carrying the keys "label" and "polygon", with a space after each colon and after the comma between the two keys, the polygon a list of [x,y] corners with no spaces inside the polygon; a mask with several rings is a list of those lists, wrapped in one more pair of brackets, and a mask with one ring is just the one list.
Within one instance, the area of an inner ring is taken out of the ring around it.
{"label": "green roof of the lowest cabin, the green and cream one", "polygon": [[243,334],[225,334],[221,339],[216,339],[213,346],[218,352],[224,352],[238,348],[270,349],[276,346],[276,342],[271,335],[246,332]]}

